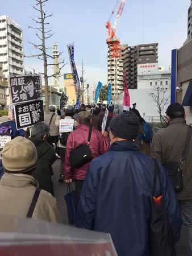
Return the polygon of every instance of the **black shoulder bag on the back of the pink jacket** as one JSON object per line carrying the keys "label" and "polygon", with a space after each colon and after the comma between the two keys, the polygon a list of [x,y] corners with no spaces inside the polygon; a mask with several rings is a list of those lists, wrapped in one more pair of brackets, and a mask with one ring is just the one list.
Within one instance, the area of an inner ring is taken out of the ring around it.
{"label": "black shoulder bag on the back of the pink jacket", "polygon": [[80,144],[80,146],[73,148],[73,150],[70,152],[69,160],[72,168],[79,169],[82,166],[84,166],[86,163],[89,163],[90,160],[93,158],[89,148],[91,131],[92,131],[92,126],[90,125],[87,144]]}

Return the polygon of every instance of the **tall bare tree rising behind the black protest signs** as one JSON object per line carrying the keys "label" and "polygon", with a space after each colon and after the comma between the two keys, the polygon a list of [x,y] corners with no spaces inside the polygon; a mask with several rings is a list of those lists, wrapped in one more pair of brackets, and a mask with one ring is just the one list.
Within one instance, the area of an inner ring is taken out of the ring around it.
{"label": "tall bare tree rising behind the black protest signs", "polygon": [[[49,77],[58,77],[60,76],[61,68],[64,67],[64,60],[57,64],[48,64],[48,59],[55,59],[55,56],[51,56],[48,54],[48,49],[51,49],[52,47],[45,47],[46,40],[51,38],[55,33],[52,32],[52,28],[50,27],[50,23],[47,22],[47,19],[53,16],[52,14],[47,14],[47,11],[44,11],[45,5],[44,3],[48,0],[35,0],[36,3],[34,6],[32,6],[39,15],[35,16],[35,18],[31,17],[33,26],[28,26],[28,28],[32,28],[36,30],[36,36],[37,39],[40,40],[40,43],[31,43],[30,40],[28,40],[28,43],[32,44],[34,48],[38,49],[40,51],[39,54],[36,55],[30,55],[30,56],[24,56],[24,57],[36,57],[39,60],[43,60],[44,65],[44,72],[41,73],[44,76],[45,81],[45,112],[49,112],[49,85],[48,85],[48,78]],[[62,52],[59,52],[59,55],[57,57],[60,57]],[[61,64],[61,67],[59,67]],[[54,73],[53,75],[48,76],[48,66],[49,65],[56,65],[58,68],[58,72]]]}

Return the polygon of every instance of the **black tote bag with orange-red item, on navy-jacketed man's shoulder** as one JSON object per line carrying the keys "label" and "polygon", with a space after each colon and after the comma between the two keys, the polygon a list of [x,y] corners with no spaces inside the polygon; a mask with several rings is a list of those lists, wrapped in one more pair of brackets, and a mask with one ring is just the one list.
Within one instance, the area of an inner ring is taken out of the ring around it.
{"label": "black tote bag with orange-red item, on navy-jacketed man's shoulder", "polygon": [[[153,160],[155,161],[155,172],[153,178],[151,216],[149,217],[149,255],[176,256],[173,230],[162,195],[161,174],[157,160]],[[158,198],[155,197],[157,176],[161,189],[161,196]]]}

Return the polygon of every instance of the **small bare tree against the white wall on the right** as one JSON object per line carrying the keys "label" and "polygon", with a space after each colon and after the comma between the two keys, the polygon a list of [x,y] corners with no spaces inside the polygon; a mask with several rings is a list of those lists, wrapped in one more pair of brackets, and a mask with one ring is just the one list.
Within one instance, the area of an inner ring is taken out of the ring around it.
{"label": "small bare tree against the white wall on the right", "polygon": [[152,93],[149,93],[149,96],[153,98],[153,101],[156,102],[157,109],[158,109],[158,114],[160,116],[160,122],[161,125],[164,121],[164,117],[162,115],[162,110],[164,109],[164,106],[168,104],[170,100],[170,96],[166,96],[166,92],[168,89],[165,89],[164,87],[157,87],[153,89]]}

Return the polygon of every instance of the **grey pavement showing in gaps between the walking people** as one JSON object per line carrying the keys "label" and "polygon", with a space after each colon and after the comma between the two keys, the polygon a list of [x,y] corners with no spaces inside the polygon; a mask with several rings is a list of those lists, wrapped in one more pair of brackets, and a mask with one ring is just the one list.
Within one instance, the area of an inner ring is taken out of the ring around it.
{"label": "grey pavement showing in gaps between the walking people", "polygon": [[[54,185],[54,192],[55,192],[55,197],[57,199],[57,202],[59,204],[61,216],[63,219],[63,224],[71,226],[68,222],[68,213],[67,213],[67,208],[64,200],[64,195],[66,195],[67,193],[66,183],[65,181],[63,183],[58,182],[59,169],[60,169],[60,159],[58,158],[56,162],[53,164],[54,175],[52,176],[52,181]],[[74,189],[74,183],[72,183],[72,188]],[[191,256],[190,247],[187,242],[187,231],[184,227],[182,227],[181,239],[180,241],[177,242],[176,250],[177,250],[177,256]]]}

